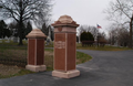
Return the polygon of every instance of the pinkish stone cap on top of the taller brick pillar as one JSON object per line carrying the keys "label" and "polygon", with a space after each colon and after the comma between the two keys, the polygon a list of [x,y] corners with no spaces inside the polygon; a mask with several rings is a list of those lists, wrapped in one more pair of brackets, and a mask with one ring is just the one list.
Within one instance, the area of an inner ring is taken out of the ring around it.
{"label": "pinkish stone cap on top of the taller brick pillar", "polygon": [[79,26],[75,21],[70,15],[61,15],[58,21],[55,21],[53,26]]}

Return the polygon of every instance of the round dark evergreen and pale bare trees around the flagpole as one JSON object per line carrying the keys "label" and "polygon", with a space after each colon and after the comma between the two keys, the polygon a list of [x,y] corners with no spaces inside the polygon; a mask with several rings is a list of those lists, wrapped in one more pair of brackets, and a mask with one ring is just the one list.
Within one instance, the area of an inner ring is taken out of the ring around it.
{"label": "round dark evergreen and pale bare trees around the flagpole", "polygon": [[106,42],[105,32],[100,32],[96,26],[81,25],[78,28],[78,39],[79,41],[101,41]]}

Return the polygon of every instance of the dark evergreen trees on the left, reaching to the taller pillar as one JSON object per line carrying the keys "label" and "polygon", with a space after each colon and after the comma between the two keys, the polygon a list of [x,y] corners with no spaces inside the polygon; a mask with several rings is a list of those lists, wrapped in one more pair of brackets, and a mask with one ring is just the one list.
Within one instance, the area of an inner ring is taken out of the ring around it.
{"label": "dark evergreen trees on the left, reaching to the taller pillar", "polygon": [[[19,31],[18,31],[19,24],[13,21],[9,24],[7,24],[3,20],[0,21],[0,39],[4,37],[19,37]],[[25,35],[28,35],[32,31],[32,24],[31,22],[24,22],[22,24],[22,40],[27,39]],[[41,31],[48,36],[50,31],[50,37],[53,41],[53,29],[51,25],[45,25],[45,23],[42,25]]]}

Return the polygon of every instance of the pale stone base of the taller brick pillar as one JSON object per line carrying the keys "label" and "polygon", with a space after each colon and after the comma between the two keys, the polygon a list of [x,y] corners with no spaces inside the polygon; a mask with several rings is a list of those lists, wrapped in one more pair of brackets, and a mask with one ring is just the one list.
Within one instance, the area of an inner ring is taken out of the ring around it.
{"label": "pale stone base of the taller brick pillar", "polygon": [[80,71],[74,69],[74,71],[68,71],[68,72],[60,72],[60,71],[53,71],[52,76],[60,77],[60,78],[72,78],[80,76]]}

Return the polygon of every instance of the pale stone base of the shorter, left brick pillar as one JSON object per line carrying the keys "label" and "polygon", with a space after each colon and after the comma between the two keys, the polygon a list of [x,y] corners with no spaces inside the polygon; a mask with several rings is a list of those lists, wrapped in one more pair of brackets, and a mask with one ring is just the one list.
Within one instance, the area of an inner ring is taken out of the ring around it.
{"label": "pale stone base of the shorter, left brick pillar", "polygon": [[43,72],[47,69],[47,66],[45,65],[27,65],[25,68],[32,72]]}

